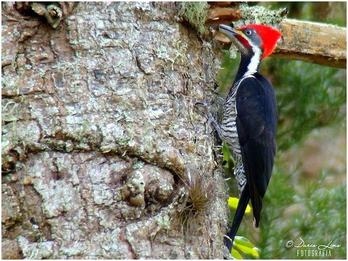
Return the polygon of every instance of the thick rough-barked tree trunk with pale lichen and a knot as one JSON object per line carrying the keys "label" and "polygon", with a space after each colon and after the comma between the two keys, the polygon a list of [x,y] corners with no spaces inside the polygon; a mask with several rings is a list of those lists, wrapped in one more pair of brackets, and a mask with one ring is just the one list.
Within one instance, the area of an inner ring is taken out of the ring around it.
{"label": "thick rough-barked tree trunk with pale lichen and a knot", "polygon": [[[214,42],[175,3],[78,3],[55,29],[2,14],[2,258],[222,258],[226,185],[194,106],[216,100]],[[213,204],[185,231],[197,175]]]}

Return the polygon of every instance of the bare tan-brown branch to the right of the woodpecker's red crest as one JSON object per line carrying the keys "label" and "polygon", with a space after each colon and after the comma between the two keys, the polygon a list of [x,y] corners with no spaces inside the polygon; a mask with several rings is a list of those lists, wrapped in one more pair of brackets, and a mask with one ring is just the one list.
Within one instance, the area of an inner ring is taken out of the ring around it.
{"label": "bare tan-brown branch to the right of the woodpecker's red crest", "polygon": [[283,34],[273,56],[347,68],[347,28],[324,23],[284,19]]}

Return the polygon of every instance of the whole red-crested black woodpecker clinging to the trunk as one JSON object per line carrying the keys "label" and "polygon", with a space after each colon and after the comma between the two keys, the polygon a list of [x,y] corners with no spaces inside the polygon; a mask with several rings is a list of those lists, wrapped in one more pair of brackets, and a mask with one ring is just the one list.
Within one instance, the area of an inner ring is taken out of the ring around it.
{"label": "whole red-crested black woodpecker clinging to the trunk", "polygon": [[240,200],[225,241],[231,253],[245,209],[251,200],[254,225],[260,222],[262,198],[266,192],[276,155],[278,109],[269,80],[259,73],[260,62],[276,48],[282,34],[267,25],[244,25],[234,29],[220,25],[240,50],[240,67],[223,105],[222,123],[211,121],[235,160],[235,178]]}

